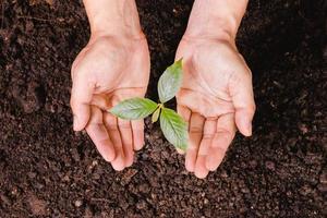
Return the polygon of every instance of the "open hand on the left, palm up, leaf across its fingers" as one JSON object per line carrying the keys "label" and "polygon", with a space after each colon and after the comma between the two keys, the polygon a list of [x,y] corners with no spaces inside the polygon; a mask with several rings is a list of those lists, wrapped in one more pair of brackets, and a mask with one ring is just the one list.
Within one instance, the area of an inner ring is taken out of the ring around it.
{"label": "open hand on the left, palm up, leaf across its fingers", "polygon": [[72,66],[71,107],[74,130],[86,130],[113,169],[133,164],[144,144],[144,123],[125,121],[108,112],[119,101],[144,97],[149,80],[149,53],[140,37],[93,34]]}

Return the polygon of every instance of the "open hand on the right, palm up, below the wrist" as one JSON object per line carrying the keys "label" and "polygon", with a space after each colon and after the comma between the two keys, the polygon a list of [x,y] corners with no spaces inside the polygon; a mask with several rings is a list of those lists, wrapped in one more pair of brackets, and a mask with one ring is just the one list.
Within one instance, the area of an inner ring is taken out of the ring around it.
{"label": "open hand on the right, palm up, below the wrist", "polygon": [[232,40],[181,40],[177,60],[183,58],[183,83],[178,111],[189,123],[185,167],[197,178],[218,168],[237,129],[252,134],[255,112],[252,74]]}

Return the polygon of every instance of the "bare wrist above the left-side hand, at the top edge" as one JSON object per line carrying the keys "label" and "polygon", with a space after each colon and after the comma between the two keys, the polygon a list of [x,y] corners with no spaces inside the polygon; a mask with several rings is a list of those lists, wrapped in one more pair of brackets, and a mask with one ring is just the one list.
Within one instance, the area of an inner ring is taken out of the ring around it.
{"label": "bare wrist above the left-side hand, at the top edge", "polygon": [[84,0],[92,35],[144,37],[134,0]]}

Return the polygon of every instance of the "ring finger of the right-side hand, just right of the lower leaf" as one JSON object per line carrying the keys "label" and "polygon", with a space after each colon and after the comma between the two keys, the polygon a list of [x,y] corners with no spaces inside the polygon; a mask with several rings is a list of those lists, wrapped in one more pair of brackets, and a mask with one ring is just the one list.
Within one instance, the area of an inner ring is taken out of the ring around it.
{"label": "ring finger of the right-side hand, just right of the lower leaf", "polygon": [[190,119],[190,141],[185,156],[185,168],[187,171],[193,172],[196,162],[197,150],[203,135],[204,117],[199,113],[192,113]]}

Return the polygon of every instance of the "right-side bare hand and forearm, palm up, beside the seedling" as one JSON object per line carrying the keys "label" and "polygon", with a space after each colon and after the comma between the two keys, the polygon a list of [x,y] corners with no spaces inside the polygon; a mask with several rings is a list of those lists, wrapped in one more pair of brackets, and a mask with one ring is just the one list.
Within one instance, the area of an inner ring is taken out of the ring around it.
{"label": "right-side bare hand and forearm, palm up, beside the seedling", "polygon": [[177,60],[183,57],[178,111],[189,123],[185,168],[205,178],[221,164],[237,130],[252,134],[252,73],[235,46],[247,0],[195,0]]}

